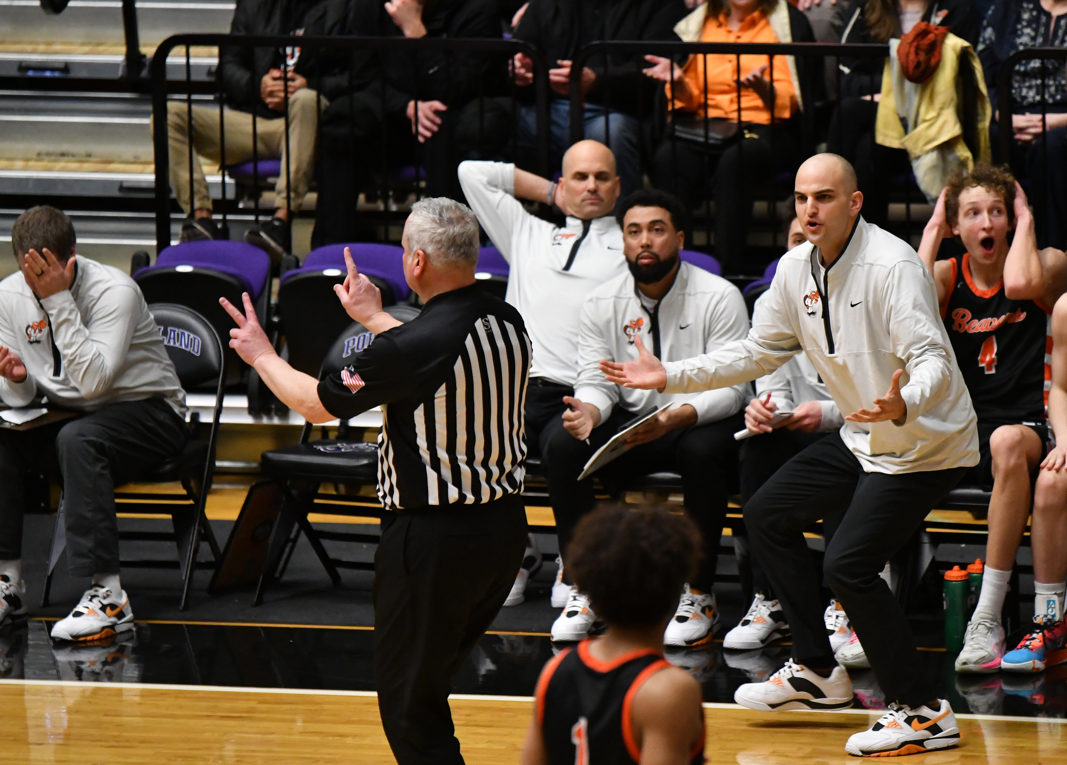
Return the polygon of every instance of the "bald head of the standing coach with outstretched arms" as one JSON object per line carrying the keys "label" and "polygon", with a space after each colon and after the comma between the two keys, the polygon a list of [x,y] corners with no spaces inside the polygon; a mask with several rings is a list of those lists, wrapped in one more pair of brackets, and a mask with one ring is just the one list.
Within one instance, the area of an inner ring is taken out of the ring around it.
{"label": "bald head of the standing coach with outstretched arms", "polygon": [[863,207],[853,165],[835,154],[816,154],[797,171],[793,196],[808,241],[840,255]]}

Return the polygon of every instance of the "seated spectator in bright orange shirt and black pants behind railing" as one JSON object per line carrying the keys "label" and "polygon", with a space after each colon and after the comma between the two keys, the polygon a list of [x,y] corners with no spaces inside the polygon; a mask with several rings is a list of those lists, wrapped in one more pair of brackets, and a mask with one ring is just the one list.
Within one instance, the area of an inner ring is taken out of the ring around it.
{"label": "seated spectator in bright orange shirt and black pants behind railing", "polygon": [[[674,32],[686,42],[815,41],[808,19],[785,0],[707,0]],[[652,66],[644,74],[666,83],[670,109],[653,180],[692,210],[715,176],[715,254],[728,269],[739,268],[755,193],[799,161],[791,117],[800,107],[797,67],[802,64],[779,55],[771,68],[769,57],[742,55],[738,71],[738,57],[729,54],[690,55],[684,66],[656,55],[646,59]]]}

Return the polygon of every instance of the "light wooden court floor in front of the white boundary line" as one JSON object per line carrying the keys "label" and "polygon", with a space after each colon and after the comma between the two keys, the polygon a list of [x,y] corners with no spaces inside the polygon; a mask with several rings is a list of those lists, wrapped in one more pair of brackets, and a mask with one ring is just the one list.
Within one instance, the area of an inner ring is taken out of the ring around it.
{"label": "light wooden court floor in front of the white boundary line", "polygon": [[[453,697],[466,761],[517,763],[531,703]],[[876,713],[750,712],[705,704],[711,763],[854,763],[849,734]],[[137,684],[0,681],[5,763],[393,763],[375,695]],[[1052,765],[1067,756],[1062,719],[964,716],[959,748],[908,765]]]}

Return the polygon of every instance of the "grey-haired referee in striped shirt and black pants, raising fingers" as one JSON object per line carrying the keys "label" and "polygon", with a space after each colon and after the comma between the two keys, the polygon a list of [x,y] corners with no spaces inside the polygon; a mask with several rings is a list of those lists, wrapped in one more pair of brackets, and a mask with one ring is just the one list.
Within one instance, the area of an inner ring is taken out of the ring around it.
{"label": "grey-haired referee in striped shirt and black pants, raising fingers", "polygon": [[462,763],[448,694],[504,604],[526,546],[523,404],[530,340],[514,307],[475,286],[478,223],[447,198],[416,203],[403,270],[425,303],[401,324],[350,257],[337,297],[373,342],[321,382],[275,352],[244,296],[223,299],[230,347],[313,423],[382,408],[375,556],[375,685],[400,765]]}

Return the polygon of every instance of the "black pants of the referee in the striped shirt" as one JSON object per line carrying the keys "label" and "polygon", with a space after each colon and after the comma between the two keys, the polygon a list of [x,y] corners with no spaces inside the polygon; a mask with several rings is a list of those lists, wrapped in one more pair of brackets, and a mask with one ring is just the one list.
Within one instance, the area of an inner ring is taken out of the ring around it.
{"label": "black pants of the referee in the striped shirt", "polygon": [[452,675],[504,605],[526,547],[526,510],[485,505],[384,513],[375,554],[375,687],[399,765],[463,763]]}

